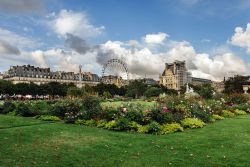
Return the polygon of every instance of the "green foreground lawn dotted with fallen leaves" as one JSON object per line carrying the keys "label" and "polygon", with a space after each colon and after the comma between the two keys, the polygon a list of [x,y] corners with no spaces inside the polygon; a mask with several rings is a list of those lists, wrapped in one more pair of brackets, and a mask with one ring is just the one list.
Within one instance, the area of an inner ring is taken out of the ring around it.
{"label": "green foreground lawn dotted with fallen leaves", "polygon": [[8,128],[0,129],[3,167],[250,164],[249,115],[163,136],[0,115],[0,126],[5,125]]}

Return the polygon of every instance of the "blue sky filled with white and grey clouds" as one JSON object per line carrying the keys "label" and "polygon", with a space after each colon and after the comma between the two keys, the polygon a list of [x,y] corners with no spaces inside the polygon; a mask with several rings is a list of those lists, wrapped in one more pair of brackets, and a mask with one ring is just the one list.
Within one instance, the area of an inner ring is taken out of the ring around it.
{"label": "blue sky filled with white and grey clouds", "polygon": [[31,64],[158,79],[185,60],[194,77],[250,74],[250,0],[0,0],[0,72]]}

